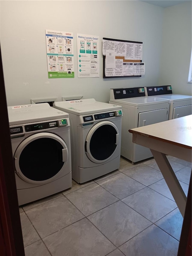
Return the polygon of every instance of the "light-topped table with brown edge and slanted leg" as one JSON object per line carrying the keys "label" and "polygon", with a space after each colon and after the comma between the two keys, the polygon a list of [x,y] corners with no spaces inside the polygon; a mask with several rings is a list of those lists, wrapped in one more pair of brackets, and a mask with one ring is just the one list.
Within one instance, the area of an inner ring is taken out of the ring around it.
{"label": "light-topped table with brown edge and slanted leg", "polygon": [[166,155],[191,162],[192,115],[129,130],[133,143],[149,148],[184,217],[187,197]]}

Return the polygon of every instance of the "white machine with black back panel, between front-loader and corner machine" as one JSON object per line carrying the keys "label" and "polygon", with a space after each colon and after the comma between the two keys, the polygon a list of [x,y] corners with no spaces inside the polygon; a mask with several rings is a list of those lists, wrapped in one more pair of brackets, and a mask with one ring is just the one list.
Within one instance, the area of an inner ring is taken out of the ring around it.
{"label": "white machine with black back panel, between front-loader and corner machine", "polygon": [[110,89],[110,104],[122,106],[121,155],[132,163],[152,157],[150,149],[132,142],[129,129],[168,120],[169,100],[145,96],[144,87]]}

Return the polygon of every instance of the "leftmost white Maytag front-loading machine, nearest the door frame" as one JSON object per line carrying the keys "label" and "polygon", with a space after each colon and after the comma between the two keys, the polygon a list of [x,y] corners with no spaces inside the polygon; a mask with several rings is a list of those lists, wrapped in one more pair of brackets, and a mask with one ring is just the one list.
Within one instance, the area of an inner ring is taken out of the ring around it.
{"label": "leftmost white Maytag front-loading machine, nearest the door frame", "polygon": [[48,103],[7,109],[19,205],[70,188],[69,115]]}

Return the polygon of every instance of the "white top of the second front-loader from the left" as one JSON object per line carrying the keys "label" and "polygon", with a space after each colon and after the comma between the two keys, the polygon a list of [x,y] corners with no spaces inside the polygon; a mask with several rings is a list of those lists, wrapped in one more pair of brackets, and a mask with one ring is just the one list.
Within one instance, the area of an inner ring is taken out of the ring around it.
{"label": "white top of the second front-loader from the left", "polygon": [[77,116],[99,113],[104,111],[119,110],[118,105],[95,101],[95,99],[83,99],[77,101],[59,101],[53,107],[64,110]]}

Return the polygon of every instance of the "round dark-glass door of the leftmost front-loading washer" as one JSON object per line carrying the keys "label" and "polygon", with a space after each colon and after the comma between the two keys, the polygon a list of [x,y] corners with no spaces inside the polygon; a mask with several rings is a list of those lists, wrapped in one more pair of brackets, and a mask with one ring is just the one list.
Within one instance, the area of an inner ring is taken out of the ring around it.
{"label": "round dark-glass door of the leftmost front-loading washer", "polygon": [[29,183],[44,184],[63,171],[67,145],[56,134],[41,132],[24,139],[14,154],[17,174]]}

